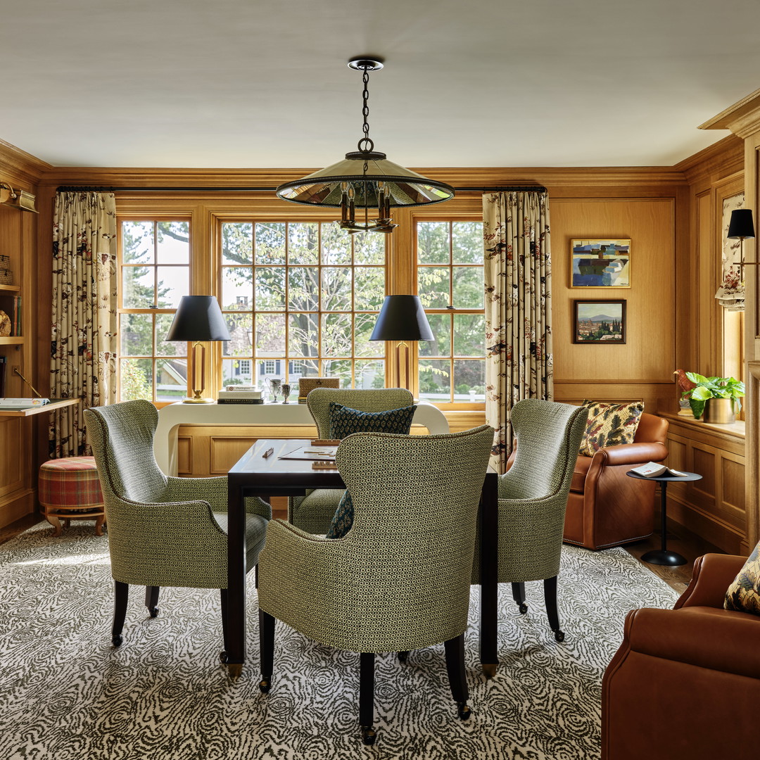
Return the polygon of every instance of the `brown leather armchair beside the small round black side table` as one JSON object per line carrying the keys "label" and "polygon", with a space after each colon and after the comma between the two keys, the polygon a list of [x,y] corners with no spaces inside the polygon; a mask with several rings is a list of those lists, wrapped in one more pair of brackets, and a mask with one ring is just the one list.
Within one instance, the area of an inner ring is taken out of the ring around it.
{"label": "brown leather armchair beside the small round black side table", "polygon": [[625,473],[667,457],[667,427],[663,417],[642,413],[633,443],[578,457],[565,512],[565,543],[606,549],[651,536],[656,484]]}

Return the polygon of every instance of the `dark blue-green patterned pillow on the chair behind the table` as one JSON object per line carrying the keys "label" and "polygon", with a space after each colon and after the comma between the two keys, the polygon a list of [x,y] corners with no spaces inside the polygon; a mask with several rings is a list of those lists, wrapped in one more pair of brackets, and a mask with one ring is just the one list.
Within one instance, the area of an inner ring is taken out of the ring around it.
{"label": "dark blue-green patterned pillow on the chair behind the table", "polygon": [[[353,432],[394,432],[409,435],[416,406],[401,407],[385,412],[360,412],[330,402],[330,437],[344,439]],[[353,524],[353,502],[348,491],[344,492],[328,529],[328,538],[342,538]]]}

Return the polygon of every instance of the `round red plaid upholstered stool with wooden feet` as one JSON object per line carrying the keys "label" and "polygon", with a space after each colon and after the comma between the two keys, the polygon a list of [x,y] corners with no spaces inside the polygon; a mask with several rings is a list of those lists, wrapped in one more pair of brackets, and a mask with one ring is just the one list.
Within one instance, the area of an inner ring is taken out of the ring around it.
{"label": "round red plaid upholstered stool with wooden feet", "polygon": [[40,465],[39,492],[54,536],[61,534],[61,520],[66,527],[71,520],[94,520],[95,535],[103,535],[106,513],[94,457],[49,459]]}

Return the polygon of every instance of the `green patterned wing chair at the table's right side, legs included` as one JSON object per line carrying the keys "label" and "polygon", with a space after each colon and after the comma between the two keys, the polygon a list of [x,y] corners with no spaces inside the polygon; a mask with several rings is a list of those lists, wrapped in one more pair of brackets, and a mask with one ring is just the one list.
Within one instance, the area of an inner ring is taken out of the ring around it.
{"label": "green patterned wing chair at the table's right side, legs included", "polygon": [[[578,446],[588,410],[553,401],[524,399],[511,410],[518,440],[512,466],[499,478],[499,583],[511,583],[525,612],[525,581],[544,581],[549,624],[557,641],[556,581],[562,531]],[[480,582],[476,550],[473,583]]]}

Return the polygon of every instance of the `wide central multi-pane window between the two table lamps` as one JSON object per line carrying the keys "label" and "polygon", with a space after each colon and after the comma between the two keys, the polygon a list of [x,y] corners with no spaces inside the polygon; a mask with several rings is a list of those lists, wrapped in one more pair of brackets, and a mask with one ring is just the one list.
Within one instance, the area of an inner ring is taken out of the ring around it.
{"label": "wide central multi-pane window between the two table lamps", "polygon": [[334,223],[225,222],[221,249],[232,337],[222,385],[283,378],[293,394],[304,376],[385,385],[385,344],[369,341],[385,297],[385,236],[350,236]]}

